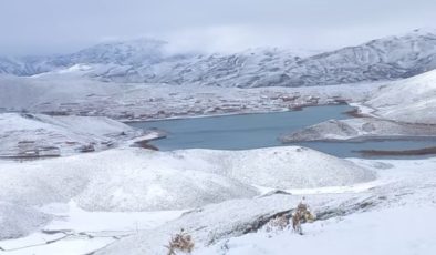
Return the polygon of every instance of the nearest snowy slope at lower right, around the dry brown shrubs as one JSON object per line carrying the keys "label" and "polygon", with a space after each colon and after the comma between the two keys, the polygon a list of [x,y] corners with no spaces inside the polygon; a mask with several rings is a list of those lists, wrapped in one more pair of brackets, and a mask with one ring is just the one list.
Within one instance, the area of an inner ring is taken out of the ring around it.
{"label": "nearest snowy slope at lower right, around the dry brown shrubs", "polygon": [[[376,167],[381,175],[376,185],[361,192],[305,195],[319,218],[313,224],[303,224],[302,236],[292,232],[291,226],[282,231],[262,227],[274,215],[289,214],[301,198],[274,194],[205,206],[163,226],[123,238],[96,254],[162,254],[169,236],[180,228],[193,236],[196,243],[193,254],[197,255],[279,255],[286,251],[341,255],[433,254],[436,248],[433,241],[436,222],[432,217],[436,212],[435,159],[360,163]],[[409,216],[416,213],[422,217]],[[346,242],[332,245],[339,239]]]}

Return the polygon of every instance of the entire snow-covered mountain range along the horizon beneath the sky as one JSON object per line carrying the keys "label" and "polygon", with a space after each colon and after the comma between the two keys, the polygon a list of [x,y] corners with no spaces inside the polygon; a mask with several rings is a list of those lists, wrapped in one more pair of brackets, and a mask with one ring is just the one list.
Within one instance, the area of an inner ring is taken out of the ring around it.
{"label": "entire snow-covered mountain range along the horizon beneath the sky", "polygon": [[436,68],[436,32],[415,30],[300,58],[289,50],[233,54],[168,54],[166,42],[139,39],[97,44],[73,54],[0,59],[0,73],[32,75],[86,64],[101,81],[218,86],[305,86],[408,78]]}

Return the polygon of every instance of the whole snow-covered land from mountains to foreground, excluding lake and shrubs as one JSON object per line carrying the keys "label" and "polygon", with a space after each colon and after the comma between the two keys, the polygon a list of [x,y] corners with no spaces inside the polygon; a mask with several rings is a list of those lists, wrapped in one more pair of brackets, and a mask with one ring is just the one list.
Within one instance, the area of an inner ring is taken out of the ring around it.
{"label": "whole snow-covered land from mountains to foreground, excluding lake and shrubs", "polygon": [[[165,45],[0,59],[0,254],[160,255],[181,228],[198,255],[435,254],[436,151],[342,159],[299,144],[436,141],[435,32],[303,57]],[[354,111],[251,150],[158,151],[165,130],[129,124],[333,104]],[[273,225],[302,197],[316,215],[303,235]]]}

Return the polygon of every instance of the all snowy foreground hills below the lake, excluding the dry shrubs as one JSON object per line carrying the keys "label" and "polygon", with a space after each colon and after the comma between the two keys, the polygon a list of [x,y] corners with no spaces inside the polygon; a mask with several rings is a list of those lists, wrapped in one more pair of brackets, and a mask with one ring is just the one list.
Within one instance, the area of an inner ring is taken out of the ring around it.
{"label": "all snowy foreground hills below the lake, excluding the dry shrubs", "polygon": [[[242,159],[243,167],[238,163]],[[267,172],[272,165],[279,167],[259,186],[266,175],[256,167]],[[15,238],[0,241],[6,254],[85,254],[100,248],[96,254],[162,254],[180,228],[193,235],[194,254],[282,254],[278,247],[321,242],[320,247],[309,245],[309,254],[314,254],[338,238],[347,241],[338,254],[356,247],[359,254],[434,251],[435,159],[346,161],[300,147],[237,154],[125,147],[0,166],[0,223],[8,230],[2,238]],[[15,185],[9,185],[12,182]],[[281,185],[284,193],[268,192]],[[303,225],[305,235],[267,231],[271,218],[292,211],[303,195],[319,218]],[[150,212],[162,208],[173,211]],[[422,217],[408,221],[411,212]],[[372,236],[372,231],[386,236]],[[363,245],[362,238],[378,245]],[[397,242],[398,248],[390,246]]]}

